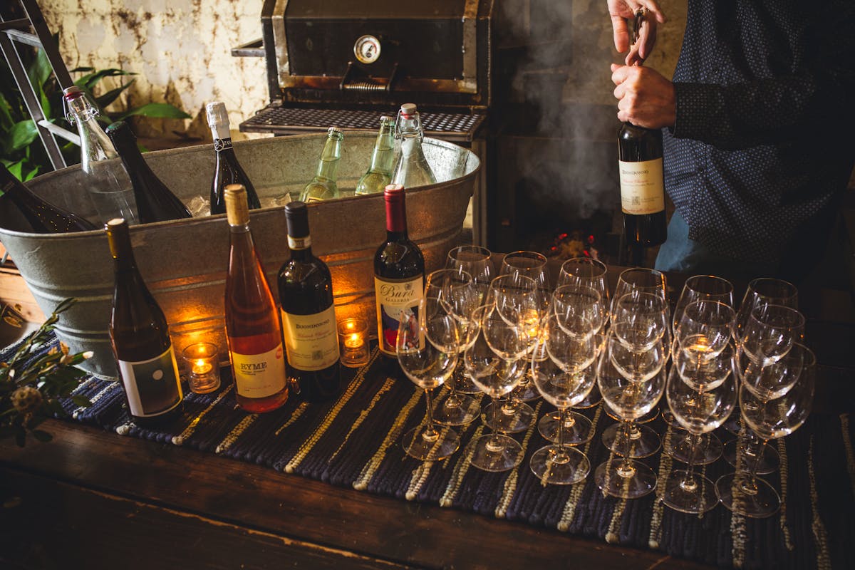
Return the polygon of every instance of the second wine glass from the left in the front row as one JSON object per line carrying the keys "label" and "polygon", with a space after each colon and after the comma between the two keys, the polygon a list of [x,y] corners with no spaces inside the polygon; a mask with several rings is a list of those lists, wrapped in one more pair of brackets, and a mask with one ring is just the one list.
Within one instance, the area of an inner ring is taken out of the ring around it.
{"label": "second wine glass from the left in the front row", "polygon": [[[519,327],[504,320],[492,303],[475,309],[472,320],[463,362],[475,385],[491,397],[492,425],[498,426],[498,398],[512,391],[525,375],[528,343]],[[524,455],[516,439],[495,428],[471,445],[469,462],[484,471],[507,471],[519,465]]]}

